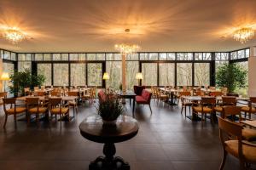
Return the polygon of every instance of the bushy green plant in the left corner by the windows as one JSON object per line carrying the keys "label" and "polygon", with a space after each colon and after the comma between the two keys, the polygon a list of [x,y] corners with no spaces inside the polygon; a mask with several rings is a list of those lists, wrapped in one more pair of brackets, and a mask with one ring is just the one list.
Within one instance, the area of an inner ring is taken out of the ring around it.
{"label": "bushy green plant in the left corner by the windows", "polygon": [[33,88],[35,86],[43,85],[45,81],[44,75],[32,75],[31,71],[15,71],[13,75],[10,76],[12,86],[9,87],[9,92],[11,94],[24,94],[24,88]]}

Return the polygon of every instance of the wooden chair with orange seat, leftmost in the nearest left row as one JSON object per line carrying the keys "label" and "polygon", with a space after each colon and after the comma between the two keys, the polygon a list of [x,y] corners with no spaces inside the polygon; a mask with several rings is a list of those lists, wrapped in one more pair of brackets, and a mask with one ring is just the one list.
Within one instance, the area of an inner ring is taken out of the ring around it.
{"label": "wooden chair with orange seat, leftmost in the nearest left row", "polygon": [[[9,109],[7,106],[9,105]],[[5,120],[3,123],[3,128],[6,126],[7,118],[10,115],[13,115],[15,118],[15,126],[16,126],[16,117],[21,113],[26,112],[26,107],[18,107],[16,106],[16,99],[15,98],[3,98],[3,111],[5,113]]]}

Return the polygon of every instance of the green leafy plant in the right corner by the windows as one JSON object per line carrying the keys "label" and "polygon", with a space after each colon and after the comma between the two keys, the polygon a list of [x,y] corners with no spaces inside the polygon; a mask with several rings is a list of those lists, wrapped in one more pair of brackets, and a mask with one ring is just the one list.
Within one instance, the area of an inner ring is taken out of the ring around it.
{"label": "green leafy plant in the right corner by the windows", "polygon": [[229,93],[233,93],[236,88],[246,87],[247,71],[240,65],[224,64],[218,67],[216,72],[216,84],[218,88],[226,87]]}

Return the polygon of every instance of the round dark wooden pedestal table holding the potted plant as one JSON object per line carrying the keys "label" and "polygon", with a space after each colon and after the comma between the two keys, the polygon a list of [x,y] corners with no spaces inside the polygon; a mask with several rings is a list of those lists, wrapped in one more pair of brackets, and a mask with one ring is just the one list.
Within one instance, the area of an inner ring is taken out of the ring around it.
{"label": "round dark wooden pedestal table holding the potted plant", "polygon": [[79,125],[80,133],[85,139],[103,143],[103,154],[91,161],[89,169],[130,169],[121,157],[114,156],[114,143],[124,142],[137,135],[138,123],[131,116],[119,116],[114,125],[103,125],[101,116],[89,116]]}

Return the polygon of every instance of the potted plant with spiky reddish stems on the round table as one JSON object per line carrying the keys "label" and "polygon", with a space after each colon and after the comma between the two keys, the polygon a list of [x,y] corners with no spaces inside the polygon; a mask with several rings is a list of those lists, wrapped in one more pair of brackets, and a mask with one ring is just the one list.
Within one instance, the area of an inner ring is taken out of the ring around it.
{"label": "potted plant with spiky reddish stems on the round table", "polygon": [[[103,93],[103,92],[102,92]],[[124,113],[124,106],[117,94],[102,94],[96,107],[97,114],[102,117],[103,124],[115,124],[117,118]]]}

